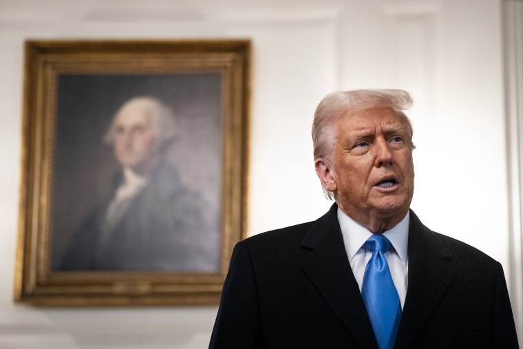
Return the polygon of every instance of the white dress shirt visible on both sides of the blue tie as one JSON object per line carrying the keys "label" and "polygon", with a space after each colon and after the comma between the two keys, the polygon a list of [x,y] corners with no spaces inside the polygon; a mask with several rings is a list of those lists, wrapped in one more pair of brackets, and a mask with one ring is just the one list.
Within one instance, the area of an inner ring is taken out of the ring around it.
{"label": "white dress shirt visible on both sides of the blue tie", "polygon": [[[365,244],[365,241],[372,235],[372,232],[365,228],[365,226],[352,220],[352,218],[343,213],[339,208],[338,221],[343,235],[345,251],[347,251],[347,256],[349,257],[350,267],[352,268],[354,277],[356,277],[356,282],[358,282],[361,292],[365,266],[367,266],[367,262],[369,262],[370,257],[372,257],[372,251],[365,248],[363,244]],[[398,290],[401,308],[403,309],[405,296],[407,295],[409,276],[409,261],[407,256],[409,213],[407,213],[405,218],[394,226],[394,228],[385,231],[383,235],[392,243],[392,248],[385,253],[385,258],[387,258],[392,281],[394,282],[394,286],[396,286],[396,290]]]}

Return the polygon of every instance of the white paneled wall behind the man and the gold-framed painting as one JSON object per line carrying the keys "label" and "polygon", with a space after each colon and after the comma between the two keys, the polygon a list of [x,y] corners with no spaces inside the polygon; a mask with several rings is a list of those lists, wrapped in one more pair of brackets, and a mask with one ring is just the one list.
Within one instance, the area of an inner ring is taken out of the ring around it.
{"label": "white paneled wall behind the man and the gold-framed painting", "polygon": [[13,304],[25,39],[252,39],[249,235],[330,206],[310,141],[323,95],[409,89],[413,209],[508,274],[500,11],[501,0],[0,1],[0,348],[204,348],[217,310]]}

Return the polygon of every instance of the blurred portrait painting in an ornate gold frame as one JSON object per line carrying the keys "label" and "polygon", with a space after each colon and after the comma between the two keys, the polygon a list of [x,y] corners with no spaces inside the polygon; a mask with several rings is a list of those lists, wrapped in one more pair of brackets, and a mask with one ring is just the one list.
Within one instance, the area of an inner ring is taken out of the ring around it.
{"label": "blurred portrait painting in an ornate gold frame", "polygon": [[217,304],[249,69],[248,40],[26,42],[15,301]]}

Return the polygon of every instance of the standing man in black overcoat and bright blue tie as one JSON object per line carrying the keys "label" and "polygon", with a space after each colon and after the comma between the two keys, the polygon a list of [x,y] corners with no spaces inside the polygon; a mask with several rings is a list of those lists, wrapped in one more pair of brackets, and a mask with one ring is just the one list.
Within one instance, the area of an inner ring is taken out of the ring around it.
{"label": "standing man in black overcoat and bright blue tie", "polygon": [[409,210],[411,103],[401,90],[321,101],[314,163],[336,203],[237,244],[211,348],[517,348],[501,265]]}

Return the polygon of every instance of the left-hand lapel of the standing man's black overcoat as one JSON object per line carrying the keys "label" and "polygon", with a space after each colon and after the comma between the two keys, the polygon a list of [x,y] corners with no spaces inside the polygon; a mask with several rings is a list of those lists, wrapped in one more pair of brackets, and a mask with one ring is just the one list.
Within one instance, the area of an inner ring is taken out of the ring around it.
{"label": "left-hand lapel of the standing man's black overcoat", "polygon": [[312,224],[301,242],[312,251],[301,260],[325,301],[362,348],[378,348],[358,283],[345,252],[337,205]]}

